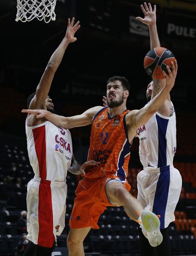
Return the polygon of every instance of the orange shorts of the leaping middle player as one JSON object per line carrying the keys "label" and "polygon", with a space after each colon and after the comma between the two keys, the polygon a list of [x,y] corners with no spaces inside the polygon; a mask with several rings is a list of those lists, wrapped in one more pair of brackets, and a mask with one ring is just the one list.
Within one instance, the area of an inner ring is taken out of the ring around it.
{"label": "orange shorts of the leaping middle player", "polygon": [[[99,229],[97,222],[99,217],[107,209],[107,206],[114,206],[108,201],[105,185],[108,179],[118,178],[114,175],[104,176],[100,179],[82,179],[76,189],[74,207],[70,216],[70,227],[80,229],[92,227]],[[123,182],[126,190],[131,186],[128,182]]]}

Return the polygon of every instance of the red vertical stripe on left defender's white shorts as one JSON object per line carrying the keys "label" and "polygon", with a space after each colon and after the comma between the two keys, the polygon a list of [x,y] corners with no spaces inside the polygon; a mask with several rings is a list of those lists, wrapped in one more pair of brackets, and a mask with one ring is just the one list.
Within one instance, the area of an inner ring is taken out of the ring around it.
{"label": "red vertical stripe on left defender's white shorts", "polygon": [[38,223],[38,245],[52,247],[55,236],[53,234],[51,181],[42,179],[39,184]]}

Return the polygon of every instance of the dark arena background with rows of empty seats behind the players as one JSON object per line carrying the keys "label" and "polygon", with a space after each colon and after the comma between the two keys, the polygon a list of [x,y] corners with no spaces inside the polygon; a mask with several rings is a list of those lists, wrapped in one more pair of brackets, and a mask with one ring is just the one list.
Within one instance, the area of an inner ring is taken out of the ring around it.
{"label": "dark arena background with rows of empty seats behind the players", "polygon": [[[35,91],[51,54],[63,39],[68,18],[75,16],[81,28],[51,86],[49,95],[57,114],[81,114],[102,105],[107,79],[114,75],[129,80],[127,108],[139,109],[146,103],[150,81],[143,67],[150,50],[148,27],[135,20],[144,16],[140,4],[140,0],[57,0],[56,20],[46,24],[37,19],[16,22],[17,0],[0,0],[0,255],[17,255],[16,245],[24,232],[17,221],[20,211],[26,209],[26,186],[33,177],[26,150],[26,114],[21,109],[26,108],[26,98]],[[171,100],[177,116],[174,166],[182,175],[183,187],[177,220],[169,227],[171,251],[176,256],[196,255],[196,0],[153,0],[153,4],[157,5],[161,46],[170,49],[178,61]],[[89,149],[90,126],[70,131],[74,155],[82,163]],[[135,197],[136,176],[142,169],[138,149],[136,140],[127,176]],[[58,239],[59,249],[67,246],[76,176],[68,174],[67,183],[66,228]],[[108,208],[100,217],[101,229],[92,229],[85,239],[85,252],[138,255],[135,223],[123,209]]]}

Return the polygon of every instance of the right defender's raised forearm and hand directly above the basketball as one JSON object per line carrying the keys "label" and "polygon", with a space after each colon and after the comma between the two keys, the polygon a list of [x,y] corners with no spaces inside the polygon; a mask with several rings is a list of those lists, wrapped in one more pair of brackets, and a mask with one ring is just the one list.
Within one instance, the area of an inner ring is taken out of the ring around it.
{"label": "right defender's raised forearm and hand directly above the basketball", "polygon": [[144,6],[141,5],[141,9],[144,13],[144,18],[137,17],[136,19],[140,20],[142,23],[146,24],[149,27],[151,49],[155,47],[160,47],[156,25],[156,5],[154,5],[154,9],[152,11],[151,4],[149,3],[147,6],[145,2]]}

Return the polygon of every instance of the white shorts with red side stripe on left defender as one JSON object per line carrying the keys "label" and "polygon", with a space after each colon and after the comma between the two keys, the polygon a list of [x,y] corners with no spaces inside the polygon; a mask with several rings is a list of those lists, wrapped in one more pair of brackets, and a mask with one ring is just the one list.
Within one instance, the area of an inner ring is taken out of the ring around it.
{"label": "white shorts with red side stripe on left defender", "polygon": [[67,184],[35,176],[27,185],[27,239],[52,247],[65,227]]}

